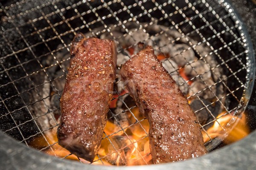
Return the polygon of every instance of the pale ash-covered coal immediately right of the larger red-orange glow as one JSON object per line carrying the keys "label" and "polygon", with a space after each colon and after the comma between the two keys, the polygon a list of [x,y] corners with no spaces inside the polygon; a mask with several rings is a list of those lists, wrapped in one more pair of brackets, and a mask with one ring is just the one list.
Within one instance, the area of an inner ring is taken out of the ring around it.
{"label": "pale ash-covered coal immediately right of the larger red-orange glow", "polygon": [[189,77],[189,79],[192,79],[199,74],[202,74],[201,77],[203,79],[209,79],[211,77],[210,68],[202,60],[198,60],[196,62],[192,62],[190,65],[187,65],[185,67],[185,74],[187,77]]}

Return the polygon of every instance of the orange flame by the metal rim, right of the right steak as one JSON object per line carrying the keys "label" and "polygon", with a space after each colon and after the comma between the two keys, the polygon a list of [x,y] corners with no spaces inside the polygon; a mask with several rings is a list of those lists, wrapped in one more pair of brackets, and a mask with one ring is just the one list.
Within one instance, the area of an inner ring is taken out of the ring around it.
{"label": "orange flame by the metal rim, right of the right steak", "polygon": [[244,138],[245,136],[247,136],[250,133],[249,127],[246,125],[246,116],[243,113],[241,116],[241,119],[237,118],[238,122],[233,127],[233,129],[230,131],[230,133],[228,133],[227,136],[224,136],[223,128],[225,129],[227,124],[230,121],[233,121],[232,119],[234,119],[232,114],[225,114],[225,113],[226,112],[222,112],[221,114],[219,114],[217,116],[217,121],[219,122],[219,124],[221,126],[218,124],[218,122],[215,121],[214,124],[212,125],[212,127],[210,127],[207,130],[207,133],[209,136],[207,136],[207,133],[202,131],[204,142],[209,142],[210,138],[214,139],[214,138],[218,137],[220,139],[223,139],[223,142],[225,144],[230,144],[230,143],[239,141],[240,139]]}

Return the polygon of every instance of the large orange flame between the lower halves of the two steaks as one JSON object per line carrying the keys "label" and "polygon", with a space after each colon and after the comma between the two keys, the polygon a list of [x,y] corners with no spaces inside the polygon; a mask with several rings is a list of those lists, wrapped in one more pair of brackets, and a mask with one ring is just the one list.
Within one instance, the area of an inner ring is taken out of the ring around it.
{"label": "large orange flame between the lower halves of the two steaks", "polygon": [[[145,133],[149,129],[148,121],[140,114],[139,108],[137,107],[131,109],[131,112],[127,114],[129,121],[131,124],[134,123],[134,125],[131,125],[125,133],[122,132],[122,136],[120,134],[113,134],[109,137],[103,137],[105,139],[102,140],[98,154],[101,158],[114,165],[152,164],[149,140]],[[111,124],[111,126],[108,130],[112,129],[113,133],[113,129],[116,128],[114,126],[116,125]],[[105,129],[105,133],[108,135],[111,131],[107,133]]]}

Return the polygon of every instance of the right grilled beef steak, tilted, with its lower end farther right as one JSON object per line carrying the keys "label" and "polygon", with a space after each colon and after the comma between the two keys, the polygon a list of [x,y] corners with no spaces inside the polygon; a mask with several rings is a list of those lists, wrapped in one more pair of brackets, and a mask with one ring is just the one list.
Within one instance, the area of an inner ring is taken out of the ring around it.
{"label": "right grilled beef steak, tilted, with its lower end farther right", "polygon": [[195,113],[151,46],[126,61],[120,74],[140,112],[148,119],[154,163],[207,153]]}

